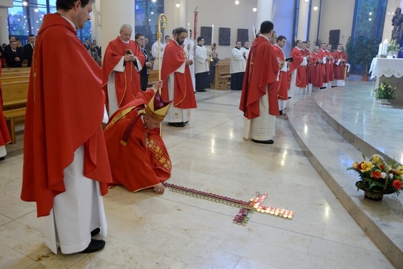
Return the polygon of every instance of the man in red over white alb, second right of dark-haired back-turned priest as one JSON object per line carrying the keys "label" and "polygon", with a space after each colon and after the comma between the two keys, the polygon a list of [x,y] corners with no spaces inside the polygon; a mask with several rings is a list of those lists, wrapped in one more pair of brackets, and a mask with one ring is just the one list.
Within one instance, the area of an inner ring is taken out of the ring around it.
{"label": "man in red over white alb, second right of dark-haired back-turned priest", "polygon": [[306,87],[306,65],[308,61],[302,55],[302,41],[297,40],[295,47],[291,51],[293,62],[289,66],[288,81],[289,89],[295,91],[296,89],[305,89]]}

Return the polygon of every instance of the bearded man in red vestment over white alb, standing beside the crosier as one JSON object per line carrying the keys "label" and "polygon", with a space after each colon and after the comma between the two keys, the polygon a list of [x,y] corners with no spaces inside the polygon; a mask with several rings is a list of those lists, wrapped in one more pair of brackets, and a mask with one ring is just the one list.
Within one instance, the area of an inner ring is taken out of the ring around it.
{"label": "bearded man in red vestment over white alb, standing beside the crosier", "polygon": [[191,108],[197,108],[195,91],[189,65],[193,61],[186,57],[182,44],[187,36],[183,27],[173,30],[173,38],[164,49],[164,60],[161,67],[162,97],[172,100],[165,121],[169,126],[184,127],[191,119]]}

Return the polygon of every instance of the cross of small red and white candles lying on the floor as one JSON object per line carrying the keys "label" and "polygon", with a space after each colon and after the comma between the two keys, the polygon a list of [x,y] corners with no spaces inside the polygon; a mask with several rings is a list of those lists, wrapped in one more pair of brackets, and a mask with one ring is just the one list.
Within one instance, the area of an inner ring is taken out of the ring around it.
{"label": "cross of small red and white candles lying on the floor", "polygon": [[262,205],[267,198],[267,193],[260,194],[259,191],[256,191],[256,196],[254,198],[250,198],[249,201],[236,200],[234,198],[220,196],[218,194],[211,194],[206,191],[197,191],[197,189],[189,189],[186,187],[173,185],[170,183],[162,183],[165,187],[171,189],[171,191],[178,192],[179,194],[185,194],[192,197],[202,198],[205,200],[219,202],[221,204],[228,204],[232,207],[239,207],[239,213],[237,213],[234,217],[234,224],[240,224],[245,226],[249,219],[251,218],[251,214],[254,212],[274,215],[276,217],[284,218],[291,220],[294,216],[294,211],[289,211],[285,209],[277,209],[276,207],[267,207]]}

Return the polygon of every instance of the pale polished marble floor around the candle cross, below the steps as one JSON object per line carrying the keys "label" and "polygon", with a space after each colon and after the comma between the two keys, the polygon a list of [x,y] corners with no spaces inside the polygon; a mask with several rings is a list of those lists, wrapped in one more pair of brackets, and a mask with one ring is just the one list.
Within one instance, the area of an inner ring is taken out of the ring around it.
{"label": "pale polished marble floor around the candle cross, below the steps", "polygon": [[[369,93],[370,86],[361,91]],[[290,113],[298,100],[315,94],[295,95]],[[289,120],[276,119],[273,145],[243,139],[240,95],[197,93],[188,126],[163,126],[173,163],[168,183],[239,200],[267,192],[263,204],[295,211],[292,220],[254,213],[240,226],[232,223],[236,207],[169,189],[156,195],[115,187],[103,199],[106,248],[53,255],[43,244],[35,205],[19,198],[19,132],[18,143],[7,145],[9,154],[0,162],[0,268],[395,268],[310,164]]]}

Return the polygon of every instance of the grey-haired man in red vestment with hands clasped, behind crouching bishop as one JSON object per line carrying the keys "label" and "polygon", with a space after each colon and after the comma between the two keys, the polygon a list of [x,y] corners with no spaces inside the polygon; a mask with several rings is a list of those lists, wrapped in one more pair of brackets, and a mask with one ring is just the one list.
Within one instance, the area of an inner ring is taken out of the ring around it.
{"label": "grey-haired man in red vestment with hands clasped, behind crouching bishop", "polygon": [[107,93],[109,115],[141,91],[140,72],[145,65],[141,47],[130,40],[132,27],[123,24],[119,34],[106,47],[102,63],[102,88]]}

